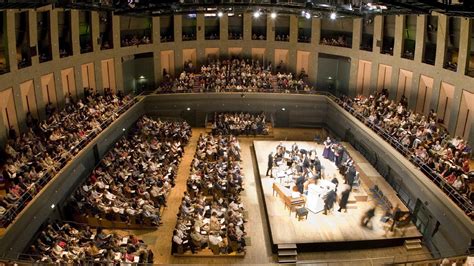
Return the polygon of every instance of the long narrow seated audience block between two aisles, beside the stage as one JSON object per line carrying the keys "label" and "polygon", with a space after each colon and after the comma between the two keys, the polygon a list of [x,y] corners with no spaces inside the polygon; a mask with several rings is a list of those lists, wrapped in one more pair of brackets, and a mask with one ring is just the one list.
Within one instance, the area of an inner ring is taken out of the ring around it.
{"label": "long narrow seated audience block between two aisles, beside the stage", "polygon": [[208,247],[215,255],[245,251],[243,174],[235,136],[201,135],[173,231],[172,253]]}

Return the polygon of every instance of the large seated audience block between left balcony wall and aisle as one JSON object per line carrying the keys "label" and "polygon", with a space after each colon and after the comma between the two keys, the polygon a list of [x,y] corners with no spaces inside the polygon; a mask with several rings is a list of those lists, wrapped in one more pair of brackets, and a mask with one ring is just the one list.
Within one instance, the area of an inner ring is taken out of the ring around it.
{"label": "large seated audience block between left balcony wall and aisle", "polygon": [[142,117],[76,191],[73,209],[108,220],[159,225],[190,136],[186,122]]}

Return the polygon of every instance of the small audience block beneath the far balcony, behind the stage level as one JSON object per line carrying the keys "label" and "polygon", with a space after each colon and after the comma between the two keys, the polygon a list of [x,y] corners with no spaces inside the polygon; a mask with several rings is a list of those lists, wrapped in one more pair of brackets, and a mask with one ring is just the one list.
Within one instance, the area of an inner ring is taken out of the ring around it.
{"label": "small audience block beneath the far balcony, behind the stage level", "polygon": [[265,113],[215,113],[212,124],[214,135],[268,135]]}

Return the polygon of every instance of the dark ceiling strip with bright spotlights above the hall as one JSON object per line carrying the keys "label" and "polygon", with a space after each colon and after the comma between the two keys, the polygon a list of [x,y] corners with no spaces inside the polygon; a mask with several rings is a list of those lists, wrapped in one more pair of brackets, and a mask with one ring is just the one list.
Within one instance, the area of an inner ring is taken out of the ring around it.
{"label": "dark ceiling strip with bright spotlights above the hall", "polygon": [[[473,0],[0,0],[0,9],[28,9],[52,4],[55,7],[114,11],[118,15],[157,16],[209,12],[244,13],[260,10],[301,14],[314,17],[371,16],[394,14],[431,14],[433,11],[450,16],[474,17]],[[463,1],[463,2],[461,2]]]}

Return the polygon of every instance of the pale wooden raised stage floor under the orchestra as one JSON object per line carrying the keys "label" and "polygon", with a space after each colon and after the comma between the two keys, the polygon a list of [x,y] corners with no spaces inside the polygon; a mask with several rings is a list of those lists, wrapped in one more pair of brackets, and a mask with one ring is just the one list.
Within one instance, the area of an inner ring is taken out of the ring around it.
{"label": "pale wooden raised stage floor under the orchestra", "polygon": [[[348,209],[347,213],[337,212],[336,210],[339,207],[336,203],[333,212],[328,215],[324,215],[322,212],[309,212],[307,220],[298,221],[294,212],[292,212],[290,215],[288,209],[284,208],[283,200],[277,195],[273,196],[272,183],[274,182],[274,179],[265,176],[265,172],[267,170],[268,154],[272,151],[275,151],[276,146],[279,143],[280,141],[266,140],[253,142],[273,245],[297,244],[298,247],[300,247],[299,244],[304,246],[306,244],[314,243],[319,243],[320,245],[339,243],[340,246],[344,246],[344,242],[360,242],[361,247],[359,248],[363,248],[366,247],[366,244],[370,246],[371,244],[369,242],[373,242],[372,244],[375,244],[372,246],[389,246],[402,244],[404,239],[421,237],[421,234],[413,224],[410,224],[406,227],[405,234],[403,236],[397,231],[395,231],[395,233],[389,232],[386,234],[386,227],[384,227],[385,224],[380,221],[385,212],[381,208],[377,208],[376,215],[372,219],[372,229],[361,226],[360,220],[362,215],[366,210],[373,206],[375,202],[375,200],[370,195],[370,191],[366,191],[368,195],[367,201],[356,202],[353,199],[353,194],[355,193],[351,193],[352,206],[350,209]],[[291,145],[293,143],[293,141],[283,141],[283,144],[287,147],[287,150],[291,150]],[[324,171],[327,178],[332,179],[335,175],[339,179],[339,183],[343,183],[343,177],[338,173],[334,163],[322,157],[323,145],[305,141],[297,141],[296,143],[300,149],[316,149],[318,157],[321,160],[321,164],[325,168]],[[348,147],[351,157],[353,157],[354,161],[356,162],[357,169],[360,169],[358,164],[361,164],[363,167],[361,170],[370,172],[371,179],[377,178],[377,171],[370,164],[368,165],[363,156],[361,156],[354,149],[349,149],[350,145],[348,143],[344,143],[344,146]],[[380,175],[378,175],[378,178],[383,180]],[[364,182],[362,178],[361,181]],[[366,190],[367,188],[364,188],[364,186],[361,185],[361,189]],[[393,194],[395,194],[394,191]],[[399,203],[403,205],[398,198],[391,198],[391,200],[397,201],[392,202],[394,204]],[[364,244],[362,244],[362,242]],[[351,246],[357,248],[354,245]],[[339,248],[340,247],[337,249]]]}

